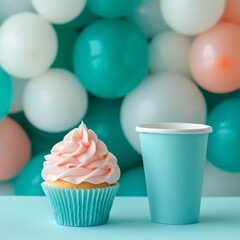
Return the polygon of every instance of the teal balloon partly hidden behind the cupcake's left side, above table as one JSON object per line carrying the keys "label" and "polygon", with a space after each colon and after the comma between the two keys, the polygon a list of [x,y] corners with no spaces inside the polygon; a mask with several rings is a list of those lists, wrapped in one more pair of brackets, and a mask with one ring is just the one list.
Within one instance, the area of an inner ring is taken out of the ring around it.
{"label": "teal balloon partly hidden behind the cupcake's left side, above table", "polygon": [[25,196],[44,196],[41,183],[44,181],[41,176],[44,156],[42,153],[33,157],[15,180],[14,194]]}

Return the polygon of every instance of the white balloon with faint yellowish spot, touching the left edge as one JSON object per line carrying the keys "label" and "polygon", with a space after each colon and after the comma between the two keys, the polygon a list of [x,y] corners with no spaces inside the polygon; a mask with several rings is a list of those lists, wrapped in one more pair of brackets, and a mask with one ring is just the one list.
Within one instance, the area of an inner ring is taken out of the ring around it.
{"label": "white balloon with faint yellowish spot, touching the left edge", "polygon": [[45,72],[57,55],[54,28],[35,13],[18,13],[0,28],[2,68],[19,78],[32,78]]}

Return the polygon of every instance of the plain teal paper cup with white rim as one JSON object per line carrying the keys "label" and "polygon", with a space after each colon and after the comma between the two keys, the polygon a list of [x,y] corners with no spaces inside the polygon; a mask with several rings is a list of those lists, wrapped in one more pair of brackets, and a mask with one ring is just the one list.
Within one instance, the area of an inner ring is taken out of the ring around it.
{"label": "plain teal paper cup with white rim", "polygon": [[158,123],[139,132],[151,221],[199,221],[208,133],[203,124]]}

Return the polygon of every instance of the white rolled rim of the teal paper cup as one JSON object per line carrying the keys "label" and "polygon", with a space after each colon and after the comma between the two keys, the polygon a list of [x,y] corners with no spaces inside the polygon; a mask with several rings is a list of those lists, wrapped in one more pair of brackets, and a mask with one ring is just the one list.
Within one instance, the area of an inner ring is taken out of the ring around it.
{"label": "white rolled rim of the teal paper cup", "polygon": [[165,134],[197,134],[211,133],[212,127],[198,123],[147,123],[136,126],[137,132],[165,133]]}

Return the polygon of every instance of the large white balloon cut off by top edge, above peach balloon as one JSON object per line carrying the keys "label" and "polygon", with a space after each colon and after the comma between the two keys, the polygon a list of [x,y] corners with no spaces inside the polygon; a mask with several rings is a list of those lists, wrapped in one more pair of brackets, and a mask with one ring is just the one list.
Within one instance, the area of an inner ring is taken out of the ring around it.
{"label": "large white balloon cut off by top edge, above peach balloon", "polygon": [[221,18],[225,0],[161,0],[163,18],[175,31],[195,35]]}

